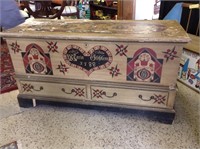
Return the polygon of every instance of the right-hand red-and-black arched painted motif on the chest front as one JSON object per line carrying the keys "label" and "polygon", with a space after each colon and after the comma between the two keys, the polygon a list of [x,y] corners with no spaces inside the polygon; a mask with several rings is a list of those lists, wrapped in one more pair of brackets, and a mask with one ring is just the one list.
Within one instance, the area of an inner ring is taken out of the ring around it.
{"label": "right-hand red-and-black arched painted motif on the chest front", "polygon": [[138,49],[133,58],[127,59],[127,80],[160,83],[163,59],[150,48]]}

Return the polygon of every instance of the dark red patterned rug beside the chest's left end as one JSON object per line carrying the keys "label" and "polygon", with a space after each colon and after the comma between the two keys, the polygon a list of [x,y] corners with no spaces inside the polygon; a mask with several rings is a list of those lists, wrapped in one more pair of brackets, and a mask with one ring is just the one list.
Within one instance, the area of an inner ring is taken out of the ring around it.
{"label": "dark red patterned rug beside the chest's left end", "polygon": [[12,60],[8,51],[8,46],[5,40],[1,41],[0,46],[0,77],[1,77],[1,90],[0,93],[9,92],[17,89],[16,81],[14,79],[14,68]]}

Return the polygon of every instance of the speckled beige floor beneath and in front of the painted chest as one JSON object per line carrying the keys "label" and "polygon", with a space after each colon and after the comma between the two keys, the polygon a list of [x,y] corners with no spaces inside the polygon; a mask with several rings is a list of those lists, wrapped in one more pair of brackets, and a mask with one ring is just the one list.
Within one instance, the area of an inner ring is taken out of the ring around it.
{"label": "speckled beige floor beneath and in front of the painted chest", "polygon": [[199,94],[177,86],[172,125],[106,109],[20,108],[18,90],[1,94],[0,146],[17,141],[18,149],[199,149]]}

